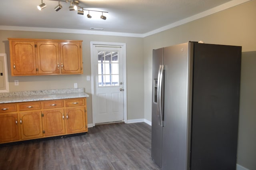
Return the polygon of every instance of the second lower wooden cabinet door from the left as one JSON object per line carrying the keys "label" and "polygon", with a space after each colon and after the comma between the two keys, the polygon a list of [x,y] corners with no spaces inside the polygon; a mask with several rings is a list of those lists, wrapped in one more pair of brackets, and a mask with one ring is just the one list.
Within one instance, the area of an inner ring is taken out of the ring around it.
{"label": "second lower wooden cabinet door from the left", "polygon": [[41,111],[19,113],[22,139],[40,138],[43,136]]}

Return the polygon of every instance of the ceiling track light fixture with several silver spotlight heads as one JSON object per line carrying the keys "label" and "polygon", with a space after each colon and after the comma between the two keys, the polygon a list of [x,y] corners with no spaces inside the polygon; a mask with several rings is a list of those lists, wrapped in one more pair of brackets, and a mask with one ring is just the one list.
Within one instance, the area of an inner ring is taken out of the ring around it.
{"label": "ceiling track light fixture with several silver spotlight heads", "polygon": [[[58,5],[54,8],[55,11],[58,11],[58,10],[62,9],[62,5],[60,4],[60,1],[63,1],[63,2],[66,1],[66,3],[69,2],[70,6],[68,7],[68,9],[70,11],[77,10],[77,8],[78,8],[77,14],[79,14],[79,15],[84,15],[84,11],[86,10],[83,7],[79,6],[79,3],[80,3],[79,0],[52,0],[52,1],[58,1],[59,2]],[[37,6],[38,10],[42,10],[45,7],[46,7],[46,4],[43,3],[43,0],[42,0],[42,4]],[[88,11],[87,18],[92,18],[92,16],[90,15],[90,11],[101,12],[102,15],[100,16],[100,18],[102,20],[106,20],[106,16],[103,16],[103,13],[108,13],[106,11],[96,11],[96,10],[86,10],[86,11]]]}

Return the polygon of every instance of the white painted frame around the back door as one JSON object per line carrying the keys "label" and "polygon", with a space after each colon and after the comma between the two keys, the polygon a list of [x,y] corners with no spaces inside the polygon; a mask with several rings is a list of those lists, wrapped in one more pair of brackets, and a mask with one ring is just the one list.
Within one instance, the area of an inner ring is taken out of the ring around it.
{"label": "white painted frame around the back door", "polygon": [[93,75],[93,45],[115,45],[115,46],[122,46],[123,49],[123,88],[124,88],[124,123],[127,123],[127,86],[126,86],[126,43],[118,43],[118,42],[90,42],[90,59],[91,59],[91,89],[92,89],[92,126],[95,126],[95,119],[94,119],[94,104],[95,97],[94,97],[94,76]]}

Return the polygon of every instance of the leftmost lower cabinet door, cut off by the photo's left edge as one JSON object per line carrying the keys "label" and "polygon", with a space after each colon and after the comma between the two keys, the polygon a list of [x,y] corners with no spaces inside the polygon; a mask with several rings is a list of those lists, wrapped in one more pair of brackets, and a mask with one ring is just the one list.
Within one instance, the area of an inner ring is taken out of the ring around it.
{"label": "leftmost lower cabinet door, cut off by the photo's left edge", "polygon": [[19,140],[17,113],[0,115],[0,142]]}

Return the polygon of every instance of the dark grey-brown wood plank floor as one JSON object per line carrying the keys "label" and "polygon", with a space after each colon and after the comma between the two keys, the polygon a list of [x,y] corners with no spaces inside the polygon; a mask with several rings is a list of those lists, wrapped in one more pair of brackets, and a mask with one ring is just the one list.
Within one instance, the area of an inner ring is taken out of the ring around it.
{"label": "dark grey-brown wood plank floor", "polygon": [[146,123],[96,125],[88,134],[0,147],[0,170],[160,170]]}

